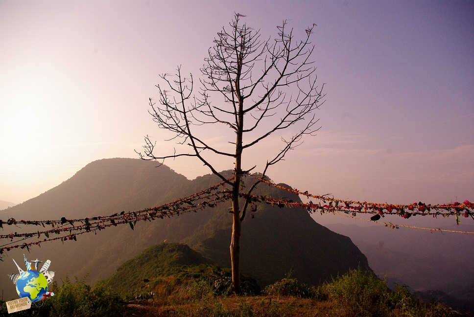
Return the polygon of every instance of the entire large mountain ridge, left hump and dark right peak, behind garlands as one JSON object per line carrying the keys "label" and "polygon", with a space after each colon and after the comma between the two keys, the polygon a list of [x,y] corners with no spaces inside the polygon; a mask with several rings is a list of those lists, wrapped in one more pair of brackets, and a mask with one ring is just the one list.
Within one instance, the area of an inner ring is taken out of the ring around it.
{"label": "entire large mountain ridge, left hump and dark right peak, behind garlands", "polygon": [[[1,217],[37,220],[109,215],[165,204],[219,182],[214,175],[190,181],[165,165],[156,165],[129,158],[92,162],[68,181],[7,209]],[[261,185],[258,190],[262,194],[291,196]],[[296,195],[291,199],[299,201]],[[89,274],[90,282],[106,278],[128,259],[165,240],[185,243],[214,262],[229,266],[229,206],[224,203],[198,213],[137,223],[133,231],[129,226],[107,228],[80,235],[77,242],[42,244],[41,248],[31,248],[29,254],[19,249],[9,251],[0,262],[0,271],[5,272],[0,274],[5,298],[16,296],[6,275],[16,271],[11,258],[20,263],[24,252],[30,259],[50,259],[56,280],[65,274]],[[295,277],[313,284],[358,265],[370,270],[366,257],[349,238],[318,225],[306,210],[269,205],[259,205],[255,218],[247,217],[243,222],[240,257],[241,271],[255,277],[261,286],[283,278],[291,269]]]}

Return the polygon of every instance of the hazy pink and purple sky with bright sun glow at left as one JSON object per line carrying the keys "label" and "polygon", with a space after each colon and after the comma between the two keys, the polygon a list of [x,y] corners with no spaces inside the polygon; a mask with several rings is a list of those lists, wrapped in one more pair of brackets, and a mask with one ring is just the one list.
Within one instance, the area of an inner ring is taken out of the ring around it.
{"label": "hazy pink and purple sky with bright sun glow at left", "polygon": [[[172,153],[147,113],[158,75],[182,65],[199,78],[234,12],[264,38],[284,19],[298,39],[317,24],[322,128],[269,170],[273,180],[378,203],[473,200],[473,3],[0,0],[0,200],[33,198],[96,159],[138,158],[147,134]],[[291,132],[249,152],[244,168],[261,170]],[[206,139],[227,142],[212,129]]]}

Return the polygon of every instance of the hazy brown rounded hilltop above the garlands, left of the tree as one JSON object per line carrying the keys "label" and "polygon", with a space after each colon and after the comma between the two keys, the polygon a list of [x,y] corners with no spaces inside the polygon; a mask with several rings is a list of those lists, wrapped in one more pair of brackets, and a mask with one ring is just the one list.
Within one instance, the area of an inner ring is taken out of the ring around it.
{"label": "hazy brown rounded hilltop above the garlands, left of the tree", "polygon": [[160,201],[173,186],[188,181],[169,167],[133,158],[100,159],[69,180],[18,204],[10,212],[22,219],[89,217],[133,210]]}

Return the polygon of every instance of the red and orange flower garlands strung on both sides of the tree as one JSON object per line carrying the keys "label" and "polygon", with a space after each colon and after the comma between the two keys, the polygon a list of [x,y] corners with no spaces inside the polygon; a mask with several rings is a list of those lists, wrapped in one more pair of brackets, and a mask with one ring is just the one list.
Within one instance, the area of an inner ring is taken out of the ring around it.
{"label": "red and orange flower garlands strung on both sides of the tree", "polygon": [[[410,218],[414,215],[423,215],[428,216],[431,215],[433,217],[442,216],[442,217],[449,217],[454,215],[456,217],[456,222],[459,225],[459,216],[462,215],[464,217],[472,217],[474,208],[474,204],[470,203],[469,201],[464,201],[462,204],[455,202],[450,204],[424,204],[424,203],[413,203],[413,204],[376,204],[376,203],[368,203],[368,202],[358,202],[358,201],[350,201],[350,200],[339,200],[329,197],[328,195],[312,195],[309,194],[308,191],[302,192],[298,189],[291,189],[281,185],[278,185],[268,179],[264,179],[259,175],[250,175],[258,181],[266,183],[268,186],[273,186],[276,188],[280,188],[286,190],[288,192],[303,195],[307,198],[311,197],[317,199],[318,203],[313,203],[309,201],[309,203],[298,203],[293,202],[292,200],[284,200],[284,199],[275,199],[271,197],[261,196],[261,195],[251,195],[245,193],[239,193],[241,198],[244,198],[251,204],[251,212],[252,217],[253,213],[256,211],[256,202],[271,204],[272,206],[282,207],[301,207],[308,210],[309,213],[319,211],[321,214],[324,213],[332,213],[337,214],[340,216],[357,219],[357,220],[364,220],[367,222],[373,222],[377,224],[383,224],[385,226],[389,226],[391,228],[399,228],[399,227],[407,227],[407,228],[416,228],[416,229],[424,229],[433,231],[441,231],[441,232],[455,232],[455,233],[465,233],[465,234],[474,234],[474,232],[469,231],[457,231],[457,230],[448,230],[448,229],[441,229],[441,228],[425,228],[425,227],[418,227],[418,226],[408,226],[408,225],[396,225],[390,222],[382,222],[378,221],[380,217],[384,217],[386,214],[389,215],[399,215],[405,219]],[[260,174],[261,175],[261,174]],[[230,179],[232,180],[232,179]],[[221,190],[219,188],[222,187]],[[47,241],[54,241],[54,240],[61,240],[63,243],[67,240],[74,240],[77,241],[76,236],[80,234],[84,234],[87,232],[94,231],[97,234],[97,230],[102,230],[110,226],[118,226],[123,224],[129,224],[129,226],[134,229],[134,226],[139,221],[152,221],[157,218],[164,219],[165,217],[173,217],[179,216],[180,213],[187,213],[187,212],[197,212],[198,210],[203,210],[206,207],[214,207],[217,204],[220,204],[224,201],[227,201],[231,198],[231,191],[226,188],[225,182],[220,182],[215,184],[205,190],[187,196],[185,198],[181,198],[175,200],[172,203],[163,204],[157,207],[146,208],[139,211],[131,211],[131,212],[120,212],[115,213],[109,216],[97,216],[92,218],[83,218],[83,219],[72,219],[68,220],[65,217],[62,217],[60,220],[39,220],[39,221],[30,221],[30,220],[21,220],[17,221],[14,218],[10,218],[7,221],[0,220],[0,228],[3,229],[3,225],[8,226],[27,226],[27,225],[34,225],[34,226],[43,226],[45,230],[37,230],[36,232],[28,232],[28,233],[10,233],[0,235],[0,239],[10,239],[9,243],[3,244],[0,246],[0,256],[4,251],[9,251],[11,249],[21,248],[21,249],[28,249],[33,245],[37,245],[40,247],[41,243]],[[321,204],[323,202],[323,204]],[[469,210],[471,209],[471,210]],[[372,214],[374,216],[371,217],[370,220],[356,217],[357,213],[362,214]],[[46,229],[46,226],[51,226],[50,229]],[[21,227],[20,227],[21,228]],[[59,237],[49,237],[50,234],[63,235]],[[37,237],[39,239],[41,235],[45,235],[46,238],[43,240],[37,240],[34,242],[24,242],[22,244],[18,244],[24,240]],[[13,241],[14,238],[21,238],[19,240]],[[16,244],[16,245],[13,245]],[[13,245],[13,246],[12,246]],[[0,257],[1,260],[1,257]]]}

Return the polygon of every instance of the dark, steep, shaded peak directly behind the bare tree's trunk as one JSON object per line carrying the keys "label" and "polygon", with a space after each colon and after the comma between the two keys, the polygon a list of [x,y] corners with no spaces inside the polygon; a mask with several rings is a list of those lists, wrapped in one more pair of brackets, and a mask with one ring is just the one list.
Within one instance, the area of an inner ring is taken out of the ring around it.
{"label": "dark, steep, shaded peak directly behind the bare tree's trunk", "polygon": [[[258,187],[256,194],[301,202],[296,194],[268,185]],[[230,263],[231,219],[225,213],[229,207],[230,204],[221,207],[223,210],[216,214],[217,219],[203,228],[208,237],[197,244],[185,240],[221,266]],[[225,218],[221,220],[221,217]],[[217,223],[226,226],[218,228],[214,225]],[[281,280],[290,270],[305,283],[319,284],[359,265],[368,268],[366,257],[352,241],[314,222],[305,209],[260,204],[255,218],[248,217],[242,223],[240,268],[256,278],[261,286]]]}

